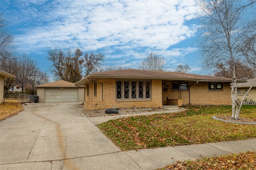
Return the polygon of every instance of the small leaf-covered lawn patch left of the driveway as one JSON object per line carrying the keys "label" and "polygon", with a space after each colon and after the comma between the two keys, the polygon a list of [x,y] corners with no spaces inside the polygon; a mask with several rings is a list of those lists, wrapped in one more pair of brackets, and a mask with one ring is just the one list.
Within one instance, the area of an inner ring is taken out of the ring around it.
{"label": "small leaf-covered lawn patch left of the driveway", "polygon": [[0,121],[16,115],[23,110],[20,103],[2,103],[0,104]]}

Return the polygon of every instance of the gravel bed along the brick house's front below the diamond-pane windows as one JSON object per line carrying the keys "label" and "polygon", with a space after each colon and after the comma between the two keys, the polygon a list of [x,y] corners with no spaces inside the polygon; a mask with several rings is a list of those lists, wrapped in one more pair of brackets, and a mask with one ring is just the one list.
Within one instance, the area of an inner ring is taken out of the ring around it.
{"label": "gravel bed along the brick house's front below the diamond-pane windows", "polygon": [[92,111],[85,111],[84,115],[86,117],[106,117],[106,116],[116,116],[116,115],[131,115],[131,114],[138,114],[138,113],[150,113],[150,112],[160,112],[160,111],[168,111],[168,109],[162,109],[162,108],[120,108],[118,114],[106,114],[105,109],[102,110],[92,110]]}

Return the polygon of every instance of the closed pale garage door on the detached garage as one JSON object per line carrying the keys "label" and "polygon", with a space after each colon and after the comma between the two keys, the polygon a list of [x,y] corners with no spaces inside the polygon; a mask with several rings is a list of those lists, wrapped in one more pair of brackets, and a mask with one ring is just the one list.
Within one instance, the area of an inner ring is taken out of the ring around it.
{"label": "closed pale garage door on the detached garage", "polygon": [[45,103],[77,102],[78,89],[44,89]]}

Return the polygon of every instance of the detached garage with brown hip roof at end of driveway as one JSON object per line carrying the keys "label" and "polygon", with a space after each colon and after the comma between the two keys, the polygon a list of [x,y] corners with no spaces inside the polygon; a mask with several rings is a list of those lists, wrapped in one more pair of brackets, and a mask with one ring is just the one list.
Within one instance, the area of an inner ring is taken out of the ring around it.
{"label": "detached garage with brown hip roof at end of driveway", "polygon": [[36,86],[39,103],[84,102],[84,87],[68,81],[54,81]]}

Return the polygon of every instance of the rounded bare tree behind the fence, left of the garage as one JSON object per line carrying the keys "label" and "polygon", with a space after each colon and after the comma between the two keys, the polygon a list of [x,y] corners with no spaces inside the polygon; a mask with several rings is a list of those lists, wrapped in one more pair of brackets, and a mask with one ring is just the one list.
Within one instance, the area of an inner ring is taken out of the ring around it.
{"label": "rounded bare tree behind the fence, left of the garage", "polygon": [[19,60],[19,71],[16,75],[16,83],[20,85],[22,91],[27,85],[34,84],[34,78],[38,67],[36,63],[28,55],[23,55]]}

